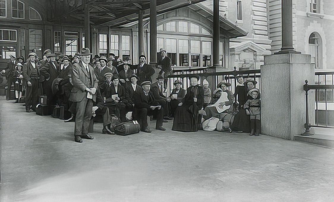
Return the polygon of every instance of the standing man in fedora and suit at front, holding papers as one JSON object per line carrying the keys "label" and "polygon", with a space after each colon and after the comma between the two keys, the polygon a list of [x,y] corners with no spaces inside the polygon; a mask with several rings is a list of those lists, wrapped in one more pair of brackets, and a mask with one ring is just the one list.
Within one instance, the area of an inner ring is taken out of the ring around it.
{"label": "standing man in fedora and suit at front, holding papers", "polygon": [[93,140],[88,135],[88,127],[92,117],[93,101],[96,102],[96,90],[98,82],[93,67],[89,64],[91,60],[89,48],[82,48],[81,61],[72,65],[73,88],[69,95],[69,101],[76,104],[74,141],[81,143],[83,139]]}

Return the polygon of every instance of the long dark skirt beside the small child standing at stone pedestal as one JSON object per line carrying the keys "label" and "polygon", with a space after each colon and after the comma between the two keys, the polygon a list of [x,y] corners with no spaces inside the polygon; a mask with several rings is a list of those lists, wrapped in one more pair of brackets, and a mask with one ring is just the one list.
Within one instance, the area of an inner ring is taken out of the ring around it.
{"label": "long dark skirt beside the small child standing at stone pedestal", "polygon": [[251,132],[251,116],[246,114],[245,109],[240,109],[235,115],[230,128],[232,131],[242,131],[244,133]]}

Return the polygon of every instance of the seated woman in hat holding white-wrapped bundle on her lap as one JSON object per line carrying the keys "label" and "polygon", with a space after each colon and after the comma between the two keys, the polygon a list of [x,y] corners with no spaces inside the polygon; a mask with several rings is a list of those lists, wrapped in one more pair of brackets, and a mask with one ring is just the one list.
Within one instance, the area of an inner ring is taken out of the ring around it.
{"label": "seated woman in hat holding white-wrapped bundle on her lap", "polygon": [[214,96],[217,97],[219,95],[219,98],[213,99],[213,102],[205,108],[206,115],[203,116],[204,120],[210,119],[211,117],[220,119],[220,115],[232,111],[233,94],[227,89],[230,85],[230,83],[226,83],[225,81],[221,81],[217,85],[217,89],[221,89],[221,91],[215,90],[216,93],[214,93]]}

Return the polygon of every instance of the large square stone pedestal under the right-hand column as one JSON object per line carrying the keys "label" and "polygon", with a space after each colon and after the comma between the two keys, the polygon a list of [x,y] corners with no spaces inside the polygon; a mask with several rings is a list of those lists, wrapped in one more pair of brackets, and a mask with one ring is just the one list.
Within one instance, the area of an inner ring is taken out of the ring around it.
{"label": "large square stone pedestal under the right-hand column", "polygon": [[[314,84],[311,55],[266,55],[261,65],[261,133],[293,140],[305,132],[305,80]],[[310,122],[314,117],[314,92],[309,91]],[[313,94],[312,94],[313,93]],[[313,114],[313,115],[312,115]]]}

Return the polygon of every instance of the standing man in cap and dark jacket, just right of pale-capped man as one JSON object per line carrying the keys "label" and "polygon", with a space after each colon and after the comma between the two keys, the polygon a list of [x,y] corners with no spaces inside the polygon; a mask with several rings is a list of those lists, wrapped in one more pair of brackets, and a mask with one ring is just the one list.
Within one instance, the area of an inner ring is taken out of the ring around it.
{"label": "standing man in cap and dark jacket, just right of pale-capped man", "polygon": [[43,95],[46,95],[47,105],[56,105],[57,96],[52,92],[52,82],[59,75],[59,65],[56,62],[56,54],[47,54],[47,57],[49,61],[40,68],[39,82],[42,84]]}

